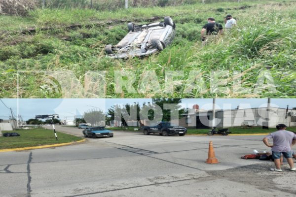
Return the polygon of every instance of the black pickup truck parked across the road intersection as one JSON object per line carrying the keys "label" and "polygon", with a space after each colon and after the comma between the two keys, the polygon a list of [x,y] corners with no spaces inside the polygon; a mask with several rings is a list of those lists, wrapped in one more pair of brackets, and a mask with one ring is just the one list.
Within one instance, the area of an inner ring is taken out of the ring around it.
{"label": "black pickup truck parked across the road intersection", "polygon": [[145,135],[150,133],[159,133],[163,136],[168,135],[180,135],[183,136],[186,134],[187,129],[185,127],[179,127],[171,125],[169,122],[159,122],[158,125],[154,127],[143,126],[142,131]]}

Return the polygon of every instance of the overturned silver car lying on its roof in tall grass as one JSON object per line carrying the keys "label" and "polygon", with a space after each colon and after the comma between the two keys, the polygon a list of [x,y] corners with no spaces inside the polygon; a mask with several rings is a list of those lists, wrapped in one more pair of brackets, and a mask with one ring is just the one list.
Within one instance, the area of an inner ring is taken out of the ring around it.
{"label": "overturned silver car lying on its roof in tall grass", "polygon": [[147,56],[162,51],[172,43],[176,25],[172,18],[164,17],[163,22],[144,25],[127,24],[129,33],[115,46],[106,45],[105,51],[111,58]]}

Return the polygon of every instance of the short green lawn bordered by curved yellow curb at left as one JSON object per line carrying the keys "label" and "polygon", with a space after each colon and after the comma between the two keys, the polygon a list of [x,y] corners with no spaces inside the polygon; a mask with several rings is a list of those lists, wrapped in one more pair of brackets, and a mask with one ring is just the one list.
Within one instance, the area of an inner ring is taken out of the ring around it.
{"label": "short green lawn bordered by curved yellow curb at left", "polygon": [[[12,132],[12,131],[2,131],[2,133],[5,133],[5,132]],[[19,133],[20,136],[0,137],[0,149],[23,148],[23,147],[31,147],[31,146],[59,144],[59,143],[78,141],[82,139],[74,135],[57,132],[58,141],[56,141],[54,132],[52,130],[46,130],[46,129],[36,129],[36,130],[26,130],[26,131],[20,130],[15,132]]]}

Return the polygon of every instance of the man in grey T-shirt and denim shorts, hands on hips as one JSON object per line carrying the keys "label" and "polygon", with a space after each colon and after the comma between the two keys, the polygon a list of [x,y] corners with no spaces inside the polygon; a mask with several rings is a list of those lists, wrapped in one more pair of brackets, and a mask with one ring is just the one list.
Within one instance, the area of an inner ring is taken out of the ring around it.
{"label": "man in grey T-shirt and denim shorts, hands on hips", "polygon": [[[274,159],[274,164],[276,168],[270,168],[271,171],[281,172],[281,155],[287,159],[290,165],[290,170],[295,171],[294,162],[291,154],[291,147],[296,143],[296,134],[291,131],[286,131],[287,126],[284,124],[279,124],[276,126],[278,131],[269,133],[263,138],[263,142],[266,146],[271,148],[272,157]],[[273,145],[268,143],[269,139],[273,139]]]}

